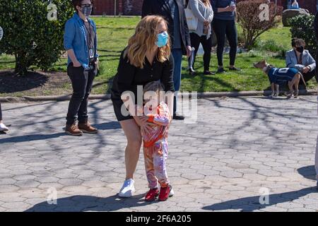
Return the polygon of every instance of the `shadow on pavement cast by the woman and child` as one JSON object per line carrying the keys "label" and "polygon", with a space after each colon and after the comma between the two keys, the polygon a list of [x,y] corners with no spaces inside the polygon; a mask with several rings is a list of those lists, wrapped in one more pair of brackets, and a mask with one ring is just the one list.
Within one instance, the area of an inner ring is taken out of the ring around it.
{"label": "shadow on pavement cast by the woman and child", "polygon": [[143,194],[132,196],[131,198],[119,198],[117,195],[109,196],[107,198],[95,196],[69,196],[58,198],[56,205],[49,204],[45,201],[25,210],[25,212],[100,212],[150,205],[151,202],[145,202],[143,196]]}

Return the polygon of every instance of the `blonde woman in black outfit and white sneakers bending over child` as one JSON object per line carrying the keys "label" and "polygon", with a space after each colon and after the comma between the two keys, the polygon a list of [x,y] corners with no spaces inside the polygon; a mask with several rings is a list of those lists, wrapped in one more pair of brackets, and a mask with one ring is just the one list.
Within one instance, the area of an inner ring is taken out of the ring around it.
{"label": "blonde woman in black outfit and white sneakers bending over child", "polygon": [[[119,191],[120,197],[130,197],[134,193],[133,175],[139,159],[141,131],[148,133],[152,125],[151,122],[143,120],[134,112],[135,103],[142,104],[143,101],[143,88],[137,87],[137,85],[160,80],[165,85],[165,91],[171,91],[168,92],[166,100],[170,112],[173,112],[174,61],[170,54],[169,39],[165,20],[160,16],[146,16],[137,25],[135,34],[129,39],[128,46],[122,52],[119,60],[111,97],[114,113],[127,138],[126,180]],[[128,95],[129,101],[126,101],[125,91],[131,92]]]}

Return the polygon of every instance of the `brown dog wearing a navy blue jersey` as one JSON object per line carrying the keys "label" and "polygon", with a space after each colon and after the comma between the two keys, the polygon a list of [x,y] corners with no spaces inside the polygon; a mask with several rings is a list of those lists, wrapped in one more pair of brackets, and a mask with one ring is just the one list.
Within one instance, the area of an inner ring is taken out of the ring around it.
{"label": "brown dog wearing a navy blue jersey", "polygon": [[[300,82],[300,78],[302,78],[303,83],[305,83],[305,79],[297,69],[293,68],[285,68],[285,69],[278,69],[273,65],[267,64],[265,60],[259,61],[258,63],[254,64],[254,67],[257,69],[262,69],[267,76],[269,76],[269,81],[271,82],[271,96],[275,97],[279,95],[279,85],[283,85],[288,83],[288,88],[290,90],[290,97],[298,97],[298,85]],[[295,91],[294,91],[295,87]],[[275,90],[276,88],[276,90]],[[295,95],[294,95],[295,94]]]}

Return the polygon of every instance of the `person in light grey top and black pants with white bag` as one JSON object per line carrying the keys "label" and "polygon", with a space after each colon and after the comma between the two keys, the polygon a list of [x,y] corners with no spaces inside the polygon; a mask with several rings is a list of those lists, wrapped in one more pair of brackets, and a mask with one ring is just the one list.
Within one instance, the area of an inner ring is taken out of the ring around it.
{"label": "person in light grey top and black pants with white bag", "polygon": [[[194,61],[198,52],[200,43],[204,48],[204,75],[212,75],[210,71],[211,60],[211,22],[213,20],[213,8],[209,0],[189,0],[189,8],[191,8],[194,16],[198,18],[198,27],[196,30],[190,30],[190,38],[192,47],[194,47]],[[192,65],[193,68],[194,65]],[[190,70],[192,73],[192,70]]]}

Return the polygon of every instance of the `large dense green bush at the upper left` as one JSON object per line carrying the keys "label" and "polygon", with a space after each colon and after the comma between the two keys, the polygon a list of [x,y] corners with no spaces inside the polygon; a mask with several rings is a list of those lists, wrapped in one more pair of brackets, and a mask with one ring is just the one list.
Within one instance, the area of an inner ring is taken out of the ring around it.
{"label": "large dense green bush at the upper left", "polygon": [[4,30],[0,52],[16,57],[15,72],[25,75],[31,65],[49,69],[64,49],[64,25],[73,14],[71,1],[0,1],[0,8]]}

